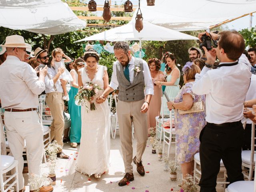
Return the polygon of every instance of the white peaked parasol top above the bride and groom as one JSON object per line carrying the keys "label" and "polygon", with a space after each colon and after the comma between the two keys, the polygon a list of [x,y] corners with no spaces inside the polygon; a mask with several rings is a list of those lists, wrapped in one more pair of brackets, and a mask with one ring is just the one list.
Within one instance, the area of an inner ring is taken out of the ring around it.
{"label": "white peaked parasol top above the bride and groom", "polygon": [[104,32],[86,37],[80,41],[105,40],[105,41],[170,41],[170,40],[198,40],[197,37],[157,26],[149,22],[143,22],[143,29],[138,32],[133,21],[126,25],[112,28]]}

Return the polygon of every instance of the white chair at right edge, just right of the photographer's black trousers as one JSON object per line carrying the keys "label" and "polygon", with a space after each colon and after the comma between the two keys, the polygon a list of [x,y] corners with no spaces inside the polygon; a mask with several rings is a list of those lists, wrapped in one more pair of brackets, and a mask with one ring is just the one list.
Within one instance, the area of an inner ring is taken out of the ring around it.
{"label": "white chair at right edge, just right of the photographer's black trousers", "polygon": [[[245,128],[246,122],[244,122],[244,128]],[[253,178],[253,170],[254,170],[254,164],[256,160],[256,151],[254,148],[256,147],[256,144],[254,143],[254,140],[256,137],[254,136],[255,133],[255,124],[252,122],[252,137],[251,137],[251,150],[243,150],[242,151],[242,166],[249,168],[249,174],[246,174],[248,171],[243,170],[244,177],[247,178],[249,181]]]}

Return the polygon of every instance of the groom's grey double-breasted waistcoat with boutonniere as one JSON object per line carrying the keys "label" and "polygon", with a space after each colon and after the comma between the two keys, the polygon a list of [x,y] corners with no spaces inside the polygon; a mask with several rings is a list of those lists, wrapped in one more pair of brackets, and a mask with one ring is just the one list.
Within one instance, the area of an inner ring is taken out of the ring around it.
{"label": "groom's grey double-breasted waistcoat with boutonniere", "polygon": [[130,83],[124,76],[124,68],[117,62],[116,76],[118,80],[118,99],[124,102],[139,101],[145,98],[144,94],[144,76],[143,76],[143,62],[142,59],[134,58],[134,67],[139,66],[140,72],[136,75],[134,72],[133,82]]}

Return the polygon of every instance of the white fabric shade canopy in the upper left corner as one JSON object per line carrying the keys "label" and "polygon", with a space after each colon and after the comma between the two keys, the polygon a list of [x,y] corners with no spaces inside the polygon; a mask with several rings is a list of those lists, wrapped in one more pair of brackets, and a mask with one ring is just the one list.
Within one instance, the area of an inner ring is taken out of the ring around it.
{"label": "white fabric shade canopy in the upper left corner", "polygon": [[41,34],[63,34],[84,28],[61,0],[0,0],[0,26]]}

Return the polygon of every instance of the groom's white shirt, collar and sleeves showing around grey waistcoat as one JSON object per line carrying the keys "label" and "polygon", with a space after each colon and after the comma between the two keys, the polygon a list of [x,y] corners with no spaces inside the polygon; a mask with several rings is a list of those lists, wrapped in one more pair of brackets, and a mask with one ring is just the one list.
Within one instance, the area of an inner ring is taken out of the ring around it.
{"label": "groom's white shirt, collar and sleeves showing around grey waistcoat", "polygon": [[[114,62],[113,64],[113,72],[112,72],[112,76],[111,76],[111,82],[109,84],[109,86],[116,90],[118,88],[118,80],[117,80],[117,76],[116,76],[116,65],[119,63],[119,61]],[[133,76],[134,76],[134,57],[132,56],[132,59],[129,62],[130,66],[129,68],[129,78],[130,78],[130,82],[133,82]],[[125,68],[124,68],[125,69]],[[148,67],[148,64],[146,61],[143,60],[143,71],[141,71],[143,73],[144,76],[144,83],[146,85],[145,88],[145,94],[146,95],[154,95],[154,86],[153,86],[153,82],[152,82],[152,77],[150,74],[150,69]]]}

